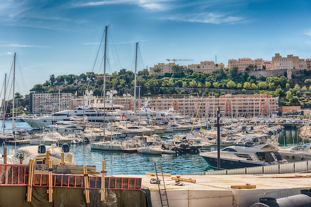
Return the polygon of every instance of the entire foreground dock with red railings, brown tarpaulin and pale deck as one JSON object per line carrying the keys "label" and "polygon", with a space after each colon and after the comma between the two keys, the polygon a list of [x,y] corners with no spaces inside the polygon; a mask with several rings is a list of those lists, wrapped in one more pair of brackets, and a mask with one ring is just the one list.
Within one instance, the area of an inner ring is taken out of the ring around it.
{"label": "entire foreground dock with red railings, brown tarpaulin and pale deck", "polygon": [[[285,198],[311,188],[309,172],[230,175],[161,173],[161,176],[157,174],[160,179],[158,186],[157,182],[151,182],[156,178],[154,173],[105,176],[104,182],[101,182],[101,176],[96,176],[95,166],[87,166],[86,170],[86,166],[78,165],[36,164],[32,170],[30,174],[30,165],[0,164],[1,207],[42,207],[47,203],[66,207],[89,203],[107,207],[116,204],[162,207],[159,187],[164,187],[164,184],[169,207],[251,207],[260,198]],[[57,171],[62,173],[55,173]],[[86,197],[83,192],[89,192],[89,196]],[[103,201],[99,199],[101,192],[105,192]],[[30,201],[25,200],[25,195]],[[62,195],[66,195],[66,199]]]}

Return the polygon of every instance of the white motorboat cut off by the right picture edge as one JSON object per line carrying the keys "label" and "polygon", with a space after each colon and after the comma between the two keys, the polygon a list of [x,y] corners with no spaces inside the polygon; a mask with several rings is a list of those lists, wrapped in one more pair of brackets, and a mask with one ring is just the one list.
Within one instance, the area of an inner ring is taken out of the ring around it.
{"label": "white motorboat cut off by the right picture edge", "polygon": [[279,153],[288,161],[302,161],[311,159],[311,143],[297,146],[280,146]]}

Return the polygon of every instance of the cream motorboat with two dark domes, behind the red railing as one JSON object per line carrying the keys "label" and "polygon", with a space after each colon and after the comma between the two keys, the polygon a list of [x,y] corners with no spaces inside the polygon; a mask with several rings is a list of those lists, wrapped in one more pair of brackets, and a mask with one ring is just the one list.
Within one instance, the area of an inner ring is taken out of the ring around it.
{"label": "cream motorboat with two dark domes, behind the red railing", "polygon": [[[64,153],[64,163],[75,165],[75,155],[70,152],[69,144],[63,144],[61,147],[52,145],[30,145],[19,147],[16,151],[9,150],[7,155],[7,164],[19,164],[22,157],[22,164],[29,164],[29,160],[34,160],[34,164],[46,164],[47,151],[49,151],[49,160],[52,164],[60,164],[62,162],[62,152]],[[3,163],[3,157],[0,157],[0,162]]]}

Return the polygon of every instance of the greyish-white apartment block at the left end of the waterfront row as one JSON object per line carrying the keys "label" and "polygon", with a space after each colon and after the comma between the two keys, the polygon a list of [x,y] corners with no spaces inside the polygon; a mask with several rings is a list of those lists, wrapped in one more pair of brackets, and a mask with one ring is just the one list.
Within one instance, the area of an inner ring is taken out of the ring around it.
{"label": "greyish-white apartment block at the left end of the waterfront row", "polygon": [[29,99],[30,113],[53,113],[62,110],[71,110],[71,93],[31,93]]}

